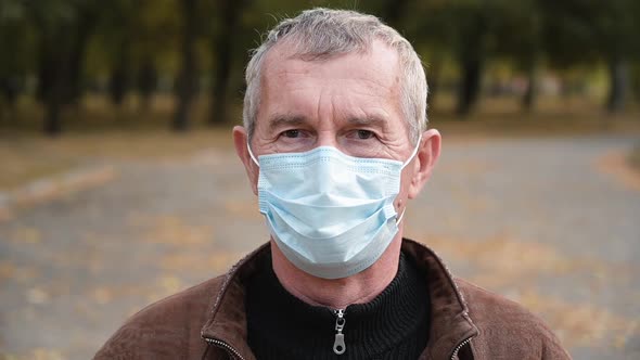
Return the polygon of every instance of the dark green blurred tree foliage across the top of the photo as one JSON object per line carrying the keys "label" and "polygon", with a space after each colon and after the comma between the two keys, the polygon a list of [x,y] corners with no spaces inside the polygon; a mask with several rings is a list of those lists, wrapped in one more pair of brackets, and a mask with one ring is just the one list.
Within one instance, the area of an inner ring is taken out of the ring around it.
{"label": "dark green blurred tree foliage across the top of the photo", "polygon": [[[87,85],[102,89],[118,73],[129,82],[146,77],[146,93],[154,78],[170,90],[183,59],[181,3],[0,0],[0,86],[62,74],[68,103]],[[630,64],[628,82],[640,93],[637,0],[196,0],[193,43],[201,90],[217,87],[215,97],[238,102],[248,50],[281,17],[312,7],[355,9],[386,21],[433,65],[434,89],[443,74],[449,82],[459,78],[477,87],[484,68],[498,63],[533,78],[542,66],[562,77],[617,61]],[[238,18],[230,17],[233,9],[241,11]],[[230,65],[220,66],[225,62]],[[222,76],[228,95],[216,81]]]}

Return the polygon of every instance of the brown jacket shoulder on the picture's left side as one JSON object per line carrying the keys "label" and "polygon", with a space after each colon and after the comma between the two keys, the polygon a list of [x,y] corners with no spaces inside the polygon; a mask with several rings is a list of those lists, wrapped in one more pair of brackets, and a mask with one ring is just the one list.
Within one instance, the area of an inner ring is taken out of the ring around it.
{"label": "brown jacket shoulder on the picture's left side", "polygon": [[201,330],[223,275],[146,306],[131,316],[94,359],[191,359],[206,347]]}

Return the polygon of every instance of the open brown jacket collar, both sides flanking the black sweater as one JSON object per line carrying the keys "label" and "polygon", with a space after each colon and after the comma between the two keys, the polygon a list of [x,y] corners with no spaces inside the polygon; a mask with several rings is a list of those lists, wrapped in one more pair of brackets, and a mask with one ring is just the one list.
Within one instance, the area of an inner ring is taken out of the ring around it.
{"label": "open brown jacket collar, both sides flanking the black sweater", "polygon": [[[202,337],[236,352],[245,360],[254,360],[246,342],[246,313],[244,311],[245,282],[255,271],[260,257],[271,250],[267,243],[240,260],[226,274],[212,307],[209,320],[202,329]],[[469,310],[453,278],[438,256],[412,240],[402,240],[402,252],[415,260],[428,279],[431,296],[431,331],[426,351],[421,359],[448,359],[456,347],[478,331],[469,317]]]}

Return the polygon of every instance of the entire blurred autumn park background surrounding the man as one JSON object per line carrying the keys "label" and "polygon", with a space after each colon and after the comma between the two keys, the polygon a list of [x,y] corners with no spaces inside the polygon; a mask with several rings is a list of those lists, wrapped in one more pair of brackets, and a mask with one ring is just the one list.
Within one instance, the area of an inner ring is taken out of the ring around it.
{"label": "entire blurred autumn park background surrounding the man", "polygon": [[311,7],[422,56],[444,150],[406,235],[576,359],[640,358],[640,1],[0,0],[0,359],[90,358],[268,240],[230,128]]}

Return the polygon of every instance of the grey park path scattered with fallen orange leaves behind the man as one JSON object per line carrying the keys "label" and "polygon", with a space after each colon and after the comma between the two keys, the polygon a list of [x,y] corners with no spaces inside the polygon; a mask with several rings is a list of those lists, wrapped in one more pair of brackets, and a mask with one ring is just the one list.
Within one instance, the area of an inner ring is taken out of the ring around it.
{"label": "grey park path scattered with fallen orange leaves behind the man", "polygon": [[[444,144],[405,234],[543,317],[576,359],[640,358],[640,190],[615,166],[633,139]],[[108,164],[101,187],[0,222],[0,359],[90,358],[127,316],[267,241],[231,150]]]}

